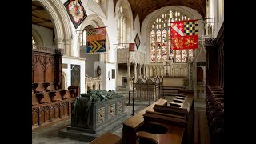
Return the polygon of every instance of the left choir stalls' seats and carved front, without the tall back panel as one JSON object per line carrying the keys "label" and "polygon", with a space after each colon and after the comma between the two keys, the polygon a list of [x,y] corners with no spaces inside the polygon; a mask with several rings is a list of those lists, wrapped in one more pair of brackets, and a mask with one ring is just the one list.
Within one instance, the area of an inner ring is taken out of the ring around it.
{"label": "left choir stalls' seats and carved front, without the tall back panel", "polygon": [[58,82],[32,83],[32,130],[70,117],[77,88],[59,87]]}

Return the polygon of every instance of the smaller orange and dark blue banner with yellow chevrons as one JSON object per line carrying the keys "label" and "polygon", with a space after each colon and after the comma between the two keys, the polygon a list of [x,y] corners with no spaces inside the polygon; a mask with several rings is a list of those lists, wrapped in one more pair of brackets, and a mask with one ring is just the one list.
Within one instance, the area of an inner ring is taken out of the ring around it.
{"label": "smaller orange and dark blue banner with yellow chevrons", "polygon": [[106,52],[106,27],[86,29],[86,46],[89,54]]}

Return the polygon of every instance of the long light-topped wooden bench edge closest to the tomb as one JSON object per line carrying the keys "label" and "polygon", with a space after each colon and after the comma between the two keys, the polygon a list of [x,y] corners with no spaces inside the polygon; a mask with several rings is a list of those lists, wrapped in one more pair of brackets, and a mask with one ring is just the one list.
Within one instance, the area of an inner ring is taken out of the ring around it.
{"label": "long light-topped wooden bench edge closest to the tomb", "polygon": [[143,114],[145,114],[146,110],[154,111],[153,107],[155,104],[167,105],[167,100],[162,98],[158,99],[158,101],[146,107],[144,110],[139,111],[138,114],[135,114],[134,116],[126,119],[126,121],[122,123],[123,124],[123,127],[122,127],[122,143],[123,144],[136,143],[138,138],[136,136],[136,133],[142,128],[141,126],[144,123]]}

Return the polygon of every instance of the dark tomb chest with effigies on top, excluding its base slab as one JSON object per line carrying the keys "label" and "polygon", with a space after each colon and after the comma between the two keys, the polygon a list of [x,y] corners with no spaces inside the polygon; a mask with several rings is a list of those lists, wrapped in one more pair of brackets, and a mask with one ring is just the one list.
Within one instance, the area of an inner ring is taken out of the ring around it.
{"label": "dark tomb chest with effigies on top, excluding its base slab", "polygon": [[71,112],[72,130],[97,131],[124,112],[123,96],[114,90],[88,90],[75,98]]}

